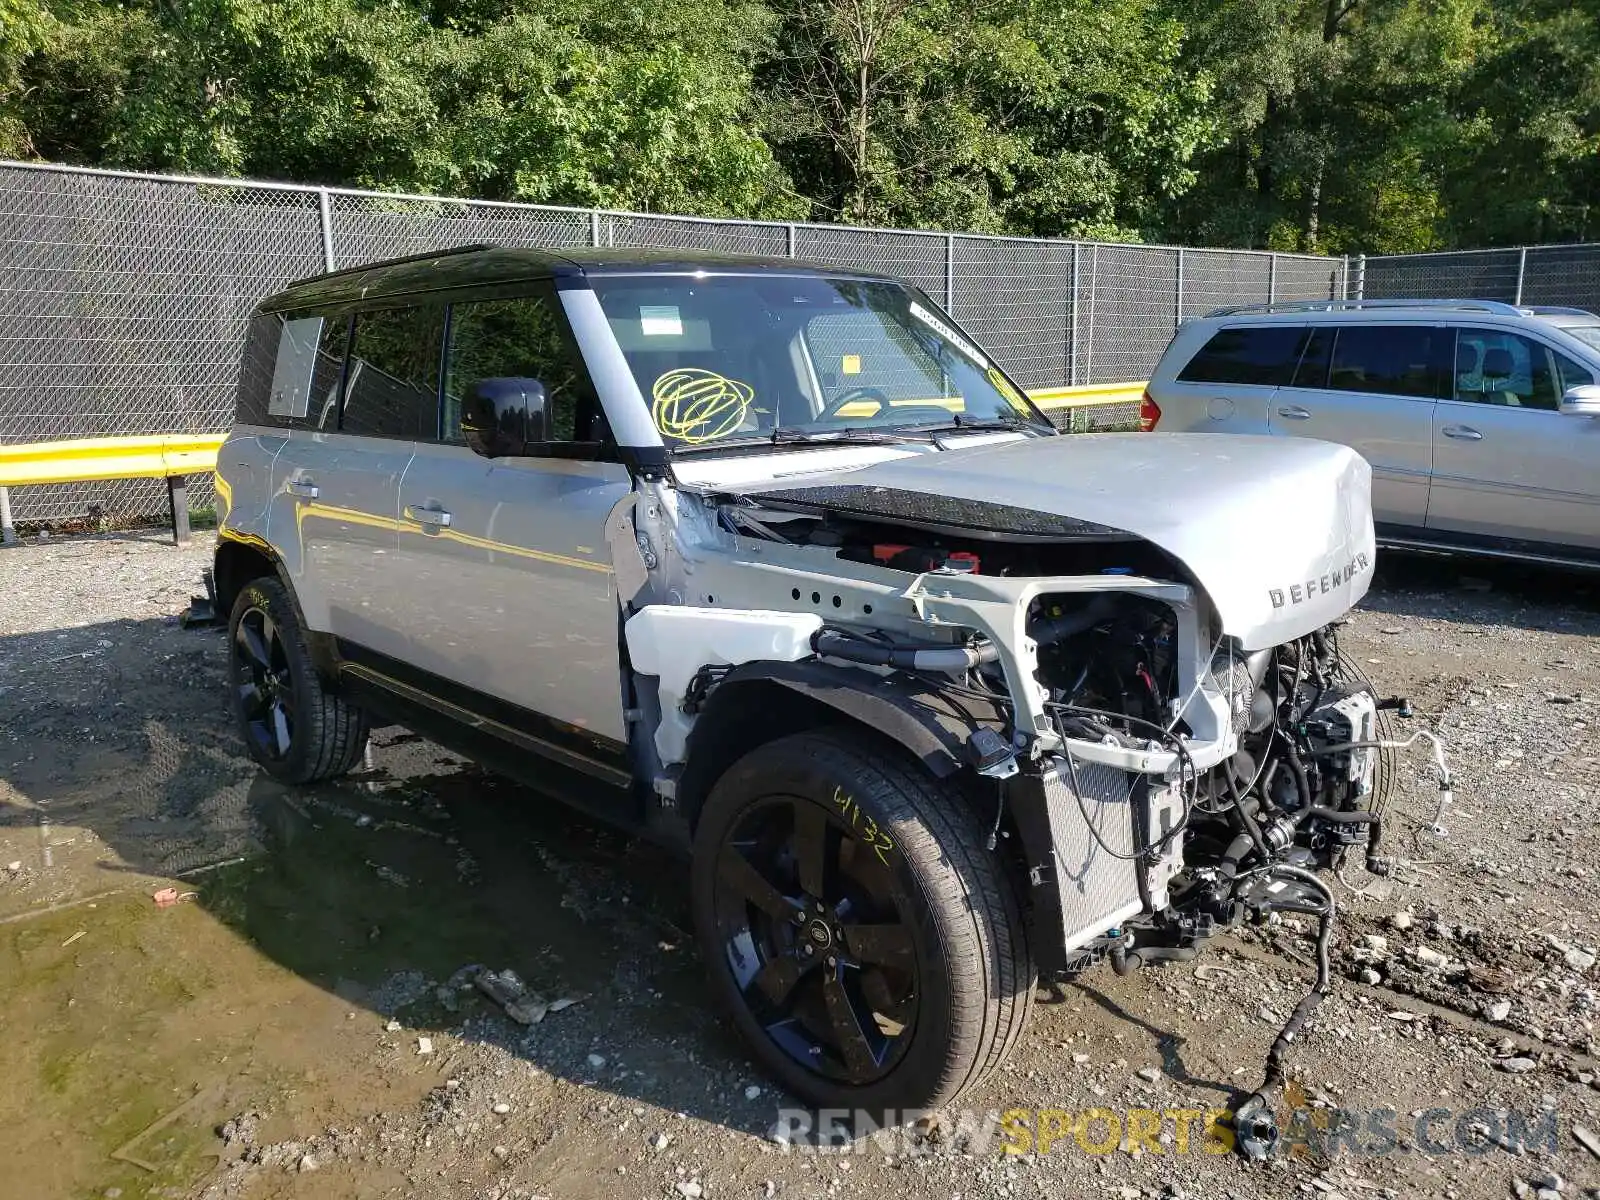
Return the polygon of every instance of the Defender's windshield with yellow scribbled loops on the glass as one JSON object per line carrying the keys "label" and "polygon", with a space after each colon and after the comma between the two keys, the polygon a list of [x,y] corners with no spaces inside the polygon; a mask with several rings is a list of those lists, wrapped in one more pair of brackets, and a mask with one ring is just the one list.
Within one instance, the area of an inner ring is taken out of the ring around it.
{"label": "Defender's windshield with yellow scribbled loops on the glass", "polygon": [[1010,379],[898,283],[813,275],[592,280],[662,440],[680,450],[1027,422]]}

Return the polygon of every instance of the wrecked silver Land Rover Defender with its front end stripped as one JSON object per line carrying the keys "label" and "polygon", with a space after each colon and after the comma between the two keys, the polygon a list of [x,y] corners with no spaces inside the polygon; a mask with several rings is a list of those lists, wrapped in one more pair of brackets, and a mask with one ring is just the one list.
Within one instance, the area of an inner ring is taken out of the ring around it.
{"label": "wrecked silver Land Rover Defender with its front end stripped", "polygon": [[218,466],[238,726],[398,722],[677,843],[712,989],[827,1107],[947,1104],[1040,971],[1182,960],[1371,869],[1355,451],[1058,435],[866,270],[470,246],[264,301]]}

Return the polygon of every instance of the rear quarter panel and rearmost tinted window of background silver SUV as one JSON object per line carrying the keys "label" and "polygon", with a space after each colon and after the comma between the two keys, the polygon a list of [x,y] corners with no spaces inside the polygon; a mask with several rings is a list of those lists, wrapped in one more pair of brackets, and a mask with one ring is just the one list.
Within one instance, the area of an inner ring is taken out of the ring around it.
{"label": "rear quarter panel and rearmost tinted window of background silver SUV", "polygon": [[[1304,325],[1226,325],[1176,374],[1163,381],[1163,357],[1150,379],[1160,429],[1195,434],[1267,434],[1272,400],[1290,382],[1306,338]],[[1174,349],[1181,354],[1184,334]]]}

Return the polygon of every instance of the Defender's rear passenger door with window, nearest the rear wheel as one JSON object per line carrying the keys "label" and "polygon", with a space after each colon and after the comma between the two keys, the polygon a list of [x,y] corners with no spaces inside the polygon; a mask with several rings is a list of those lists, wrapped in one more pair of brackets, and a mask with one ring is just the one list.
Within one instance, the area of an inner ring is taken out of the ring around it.
{"label": "Defender's rear passenger door with window, nearest the rear wheel", "polygon": [[269,538],[296,547],[296,595],[312,629],[384,654],[406,651],[406,603],[394,579],[400,477],[438,411],[442,307],[326,318],[323,344],[349,350],[312,397],[304,429],[274,464]]}

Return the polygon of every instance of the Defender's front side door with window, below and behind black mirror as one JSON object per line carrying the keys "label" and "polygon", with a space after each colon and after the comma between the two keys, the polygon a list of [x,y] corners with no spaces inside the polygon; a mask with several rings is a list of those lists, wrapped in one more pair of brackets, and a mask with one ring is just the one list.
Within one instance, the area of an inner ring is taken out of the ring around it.
{"label": "Defender's front side door with window, below and behind black mirror", "polygon": [[[547,395],[547,456],[486,459],[461,437],[478,379],[526,378]],[[554,288],[451,307],[438,435],[418,443],[400,486],[411,661],[554,720],[539,736],[621,742],[619,610],[605,520],[632,491],[602,450],[600,405]],[[490,706],[494,707],[494,706]],[[560,744],[560,741],[557,741]]]}

